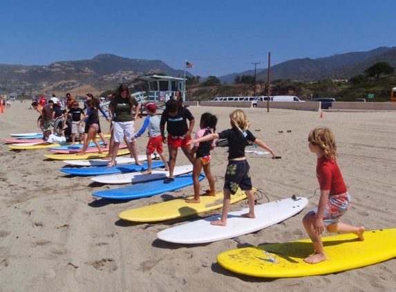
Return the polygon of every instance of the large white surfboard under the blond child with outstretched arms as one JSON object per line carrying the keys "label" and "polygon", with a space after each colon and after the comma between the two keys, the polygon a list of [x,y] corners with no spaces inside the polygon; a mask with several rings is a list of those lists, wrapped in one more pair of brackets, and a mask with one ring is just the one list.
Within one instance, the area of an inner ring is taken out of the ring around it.
{"label": "large white surfboard under the blond child with outstretched arms", "polygon": [[[212,221],[220,219],[221,215],[214,215],[187,224],[168,228],[158,232],[158,239],[177,244],[204,244],[245,235],[261,230],[301,212],[308,204],[308,199],[282,199],[270,203],[263,203],[254,207],[256,219],[241,216],[249,212],[249,208],[229,212],[227,226],[213,226]],[[186,208],[189,204],[186,203]]]}

